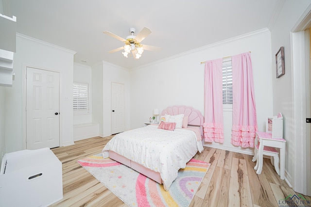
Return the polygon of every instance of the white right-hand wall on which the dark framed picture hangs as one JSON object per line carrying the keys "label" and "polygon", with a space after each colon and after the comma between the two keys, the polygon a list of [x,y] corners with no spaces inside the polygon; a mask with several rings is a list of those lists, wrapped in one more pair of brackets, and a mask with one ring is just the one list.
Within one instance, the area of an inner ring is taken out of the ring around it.
{"label": "white right-hand wall on which the dark framed picture hangs", "polygon": [[[299,3],[296,1],[286,0],[281,5],[280,13],[276,19],[276,22],[271,29],[271,48],[272,48],[272,59],[275,60],[275,54],[280,47],[284,47],[284,59],[285,59],[285,75],[276,79],[275,74],[275,62],[272,62],[271,74],[273,83],[273,112],[282,112],[283,114],[283,136],[286,139],[286,159],[285,159],[285,169],[287,178],[291,181],[294,171],[300,172],[300,169],[294,169],[295,160],[301,160],[301,156],[296,158],[297,153],[294,148],[294,143],[296,138],[294,137],[294,124],[295,122],[300,122],[295,120],[293,116],[294,109],[294,94],[293,91],[293,68],[291,60],[291,30],[294,28],[295,24],[298,22],[299,18],[306,11],[308,6],[311,4],[310,0],[300,0]],[[302,110],[302,109],[301,109]],[[303,151],[300,149],[299,154]],[[296,159],[295,159],[296,158]]]}

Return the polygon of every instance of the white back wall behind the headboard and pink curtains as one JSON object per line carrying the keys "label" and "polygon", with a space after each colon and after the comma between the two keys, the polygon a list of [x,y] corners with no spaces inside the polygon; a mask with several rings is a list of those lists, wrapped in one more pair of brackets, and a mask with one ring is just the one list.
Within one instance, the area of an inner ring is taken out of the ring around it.
{"label": "white back wall behind the headboard and pink curtains", "polygon": [[[251,51],[257,120],[265,130],[265,120],[272,111],[271,42],[268,29],[255,31],[213,45],[189,51],[172,58],[135,68],[131,71],[131,128],[142,127],[154,108],[188,105],[204,114],[203,61]],[[230,143],[232,112],[224,112],[225,142],[207,146],[252,154]]]}

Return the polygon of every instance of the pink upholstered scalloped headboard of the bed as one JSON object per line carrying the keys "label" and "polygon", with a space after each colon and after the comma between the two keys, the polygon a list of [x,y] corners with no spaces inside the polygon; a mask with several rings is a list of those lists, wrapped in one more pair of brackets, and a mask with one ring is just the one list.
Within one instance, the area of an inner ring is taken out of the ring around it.
{"label": "pink upholstered scalloped headboard of the bed", "polygon": [[170,115],[178,115],[185,114],[184,116],[188,116],[188,125],[191,126],[200,126],[201,129],[201,137],[203,136],[203,122],[204,117],[202,116],[199,110],[193,109],[190,106],[169,106],[164,109],[160,116],[170,114]]}

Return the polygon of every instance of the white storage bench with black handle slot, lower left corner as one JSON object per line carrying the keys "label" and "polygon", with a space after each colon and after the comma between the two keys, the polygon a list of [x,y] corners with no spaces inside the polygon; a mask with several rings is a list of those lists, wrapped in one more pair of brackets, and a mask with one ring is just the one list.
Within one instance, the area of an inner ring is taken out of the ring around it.
{"label": "white storage bench with black handle slot, lower left corner", "polygon": [[46,207],[63,198],[62,163],[49,148],[3,156],[0,206]]}

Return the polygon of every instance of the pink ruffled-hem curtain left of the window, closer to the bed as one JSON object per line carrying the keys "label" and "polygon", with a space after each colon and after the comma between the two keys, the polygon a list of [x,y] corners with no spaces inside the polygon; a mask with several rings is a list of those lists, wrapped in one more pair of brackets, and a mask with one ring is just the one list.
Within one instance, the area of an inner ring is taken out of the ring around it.
{"label": "pink ruffled-hem curtain left of the window, closer to the bed", "polygon": [[224,143],[223,59],[205,63],[204,73],[204,141]]}

